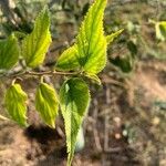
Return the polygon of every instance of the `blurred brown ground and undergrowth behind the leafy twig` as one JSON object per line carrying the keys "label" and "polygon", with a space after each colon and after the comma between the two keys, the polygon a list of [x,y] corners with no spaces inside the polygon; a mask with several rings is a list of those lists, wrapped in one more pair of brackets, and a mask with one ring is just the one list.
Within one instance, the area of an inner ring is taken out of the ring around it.
{"label": "blurred brown ground and undergrowth behind the leafy twig", "polygon": [[[74,42],[91,0],[0,0],[0,39],[33,29],[49,6],[52,44],[42,69]],[[102,86],[90,82],[92,102],[73,166],[166,166],[166,1],[108,0],[106,34],[124,29],[108,48]],[[62,79],[46,77],[59,90]],[[10,81],[0,80],[0,114]],[[65,166],[62,117],[46,127],[34,108],[38,80],[21,81],[29,94],[28,128],[0,120],[0,165]]]}

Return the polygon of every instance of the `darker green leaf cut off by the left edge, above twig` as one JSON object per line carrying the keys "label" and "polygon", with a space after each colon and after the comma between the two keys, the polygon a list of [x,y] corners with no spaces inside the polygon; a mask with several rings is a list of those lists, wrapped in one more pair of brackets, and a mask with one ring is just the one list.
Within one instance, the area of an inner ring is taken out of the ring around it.
{"label": "darker green leaf cut off by the left edge, above twig", "polygon": [[19,60],[19,46],[14,35],[0,40],[0,69],[11,69]]}

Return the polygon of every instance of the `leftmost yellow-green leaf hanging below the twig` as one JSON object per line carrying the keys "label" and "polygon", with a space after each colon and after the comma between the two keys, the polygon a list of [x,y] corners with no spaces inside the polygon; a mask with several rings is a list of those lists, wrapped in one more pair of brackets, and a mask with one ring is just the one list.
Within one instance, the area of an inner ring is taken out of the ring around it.
{"label": "leftmost yellow-green leaf hanging below the twig", "polygon": [[27,126],[27,102],[28,96],[19,84],[11,85],[4,98],[4,104],[11,118],[21,126]]}

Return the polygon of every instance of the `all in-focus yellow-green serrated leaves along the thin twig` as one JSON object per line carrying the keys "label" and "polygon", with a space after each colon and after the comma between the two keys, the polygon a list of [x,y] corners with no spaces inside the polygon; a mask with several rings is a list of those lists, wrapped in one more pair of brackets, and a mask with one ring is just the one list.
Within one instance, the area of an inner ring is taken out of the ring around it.
{"label": "all in-focus yellow-green serrated leaves along the thin twig", "polygon": [[[106,0],[94,1],[81,24],[75,43],[60,55],[54,71],[50,71],[50,74],[56,71],[62,75],[65,75],[63,72],[69,73],[59,94],[53,86],[43,82],[43,75],[39,73],[41,82],[35,92],[35,110],[43,122],[54,128],[59,107],[61,108],[69,153],[68,166],[72,164],[79,129],[91,101],[89,85],[84,77],[101,84],[97,74],[106,65],[107,46],[123,31],[104,34],[105,7]],[[25,63],[23,73],[30,73],[34,68],[43,64],[51,41],[50,14],[48,8],[44,8],[35,19],[30,34],[21,41],[18,41],[13,34],[0,41],[0,70],[9,71],[23,60]],[[11,118],[21,126],[27,126],[28,95],[20,84],[12,82],[7,90],[4,103]]]}

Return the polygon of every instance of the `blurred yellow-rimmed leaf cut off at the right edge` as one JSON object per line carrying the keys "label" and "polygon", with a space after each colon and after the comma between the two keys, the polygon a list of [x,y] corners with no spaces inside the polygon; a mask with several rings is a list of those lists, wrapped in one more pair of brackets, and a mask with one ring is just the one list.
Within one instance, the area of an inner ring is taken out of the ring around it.
{"label": "blurred yellow-rimmed leaf cut off at the right edge", "polygon": [[166,41],[166,21],[156,22],[156,38]]}

